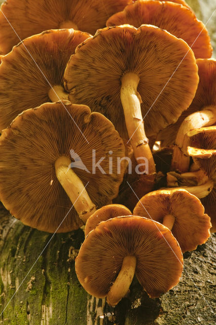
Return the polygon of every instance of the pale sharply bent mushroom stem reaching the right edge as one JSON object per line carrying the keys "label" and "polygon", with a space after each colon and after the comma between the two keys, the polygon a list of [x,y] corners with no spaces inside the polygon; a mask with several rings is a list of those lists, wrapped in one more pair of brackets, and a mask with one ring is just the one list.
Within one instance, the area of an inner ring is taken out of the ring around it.
{"label": "pale sharply bent mushroom stem reaching the right edge", "polygon": [[190,139],[187,133],[195,128],[210,126],[216,122],[216,106],[207,106],[202,111],[187,116],[178,129],[175,146],[173,148],[171,170],[187,172],[190,166],[190,156],[187,154],[187,147]]}

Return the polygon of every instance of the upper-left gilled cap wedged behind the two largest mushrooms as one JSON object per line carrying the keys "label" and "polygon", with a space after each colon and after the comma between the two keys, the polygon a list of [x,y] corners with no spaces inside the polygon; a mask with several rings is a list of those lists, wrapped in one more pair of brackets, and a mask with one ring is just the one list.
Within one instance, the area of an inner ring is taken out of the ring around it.
{"label": "upper-left gilled cap wedged behind the two largest mushrooms", "polygon": [[0,130],[22,111],[50,102],[51,86],[63,87],[67,61],[91,35],[74,29],[47,30],[15,46],[0,64]]}

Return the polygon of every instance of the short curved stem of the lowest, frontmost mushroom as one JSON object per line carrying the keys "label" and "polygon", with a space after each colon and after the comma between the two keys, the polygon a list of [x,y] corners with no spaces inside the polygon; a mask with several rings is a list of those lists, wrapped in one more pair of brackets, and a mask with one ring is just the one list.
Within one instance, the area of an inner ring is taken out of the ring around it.
{"label": "short curved stem of the lowest, frontmost mushroom", "polygon": [[122,262],[122,268],[106,296],[109,305],[115,306],[127,294],[136,269],[136,257],[132,255],[125,256]]}

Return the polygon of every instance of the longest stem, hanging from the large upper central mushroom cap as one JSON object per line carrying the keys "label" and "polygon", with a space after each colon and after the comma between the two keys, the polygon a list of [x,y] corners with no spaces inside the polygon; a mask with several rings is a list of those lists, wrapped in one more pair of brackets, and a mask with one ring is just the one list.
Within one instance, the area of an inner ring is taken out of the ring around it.
{"label": "longest stem, hanging from the large upper central mushroom cap", "polygon": [[[121,102],[124,110],[128,136],[137,160],[140,173],[155,174],[155,162],[149,147],[149,139],[145,134],[141,113],[141,98],[137,91],[139,77],[134,73],[126,73],[122,77]],[[148,160],[146,160],[148,159]],[[148,161],[148,172],[146,164]]]}

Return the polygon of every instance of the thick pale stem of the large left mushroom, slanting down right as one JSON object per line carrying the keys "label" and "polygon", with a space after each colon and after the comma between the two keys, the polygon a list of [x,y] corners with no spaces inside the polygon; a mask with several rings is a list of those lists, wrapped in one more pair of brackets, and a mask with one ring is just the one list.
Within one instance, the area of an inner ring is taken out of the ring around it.
{"label": "thick pale stem of the large left mushroom, slanting down right", "polygon": [[81,179],[69,167],[70,163],[71,160],[68,157],[58,157],[55,161],[56,177],[73,203],[79,217],[86,223],[88,217],[96,211],[96,206],[91,201]]}

